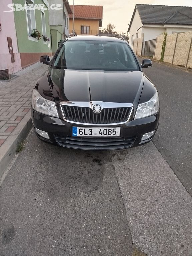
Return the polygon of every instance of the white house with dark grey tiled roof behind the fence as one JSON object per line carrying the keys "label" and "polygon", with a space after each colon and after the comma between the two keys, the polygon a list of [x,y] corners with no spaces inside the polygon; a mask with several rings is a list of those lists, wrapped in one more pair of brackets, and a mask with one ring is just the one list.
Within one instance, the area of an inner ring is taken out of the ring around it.
{"label": "white house with dark grey tiled roof behind the fence", "polygon": [[182,33],[192,30],[192,7],[136,4],[128,32],[129,43],[135,38],[143,41],[155,39],[158,35]]}

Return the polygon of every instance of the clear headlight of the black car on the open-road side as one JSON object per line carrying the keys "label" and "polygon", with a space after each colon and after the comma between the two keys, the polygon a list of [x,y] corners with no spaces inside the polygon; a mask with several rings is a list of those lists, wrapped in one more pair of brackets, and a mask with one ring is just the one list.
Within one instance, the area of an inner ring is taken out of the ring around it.
{"label": "clear headlight of the black car on the open-road side", "polygon": [[137,111],[134,119],[151,116],[159,111],[159,96],[156,92],[153,97],[142,104],[138,104]]}

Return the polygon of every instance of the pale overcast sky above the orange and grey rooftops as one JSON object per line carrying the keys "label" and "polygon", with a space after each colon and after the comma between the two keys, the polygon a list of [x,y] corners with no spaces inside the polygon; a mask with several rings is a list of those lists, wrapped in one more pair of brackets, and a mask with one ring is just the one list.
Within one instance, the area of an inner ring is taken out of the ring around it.
{"label": "pale overcast sky above the orange and grey rooftops", "polygon": [[[68,0],[73,4],[73,0]],[[136,4],[192,6],[192,0],[74,0],[74,5],[103,5],[103,28],[115,25],[115,31],[127,31]]]}

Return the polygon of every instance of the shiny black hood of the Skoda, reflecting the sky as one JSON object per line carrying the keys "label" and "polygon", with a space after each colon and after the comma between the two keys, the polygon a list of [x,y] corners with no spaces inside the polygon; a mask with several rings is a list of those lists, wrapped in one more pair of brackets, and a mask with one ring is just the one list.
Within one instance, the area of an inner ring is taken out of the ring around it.
{"label": "shiny black hood of the Skoda, reflecting the sky", "polygon": [[56,101],[103,101],[138,104],[142,71],[48,70]]}

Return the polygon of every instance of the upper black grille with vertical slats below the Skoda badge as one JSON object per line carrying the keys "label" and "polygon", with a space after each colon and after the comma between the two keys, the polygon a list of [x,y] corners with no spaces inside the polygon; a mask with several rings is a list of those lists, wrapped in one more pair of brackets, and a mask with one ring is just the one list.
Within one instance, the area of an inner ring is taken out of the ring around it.
{"label": "upper black grille with vertical slats below the Skoda badge", "polygon": [[100,113],[94,113],[91,108],[62,105],[65,119],[71,122],[86,124],[116,124],[126,122],[131,107],[104,108]]}

